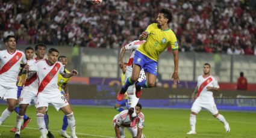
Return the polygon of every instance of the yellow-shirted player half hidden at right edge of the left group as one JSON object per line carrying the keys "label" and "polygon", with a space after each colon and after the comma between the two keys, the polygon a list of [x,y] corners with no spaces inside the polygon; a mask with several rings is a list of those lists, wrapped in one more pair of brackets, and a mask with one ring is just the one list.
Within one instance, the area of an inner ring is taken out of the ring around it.
{"label": "yellow-shirted player half hidden at right edge of the left group", "polygon": [[[70,73],[69,70],[67,70],[67,68],[66,68],[67,67],[67,57],[66,56],[59,56],[58,61],[60,61],[64,65],[64,67],[65,67],[64,71],[66,73]],[[61,74],[58,74],[58,89],[60,89],[61,94],[64,95],[63,98],[66,98],[67,101],[69,101],[69,89],[67,87],[67,83],[69,82],[70,79],[71,79],[71,77],[64,78]],[[69,124],[67,123],[67,116],[64,115],[63,116],[62,128],[59,131],[60,136],[70,137],[66,132],[68,125]]]}

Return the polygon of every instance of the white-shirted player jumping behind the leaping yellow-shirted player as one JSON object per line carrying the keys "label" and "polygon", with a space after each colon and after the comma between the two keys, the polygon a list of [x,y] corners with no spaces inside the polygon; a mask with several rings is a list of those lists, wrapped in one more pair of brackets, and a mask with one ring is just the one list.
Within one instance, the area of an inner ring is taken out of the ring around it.
{"label": "white-shirted player jumping behind the leaping yellow-shirted player", "polygon": [[[119,58],[119,67],[122,69],[123,68],[123,56],[125,55],[126,50],[131,50],[130,54],[130,59],[128,63],[126,64],[126,72],[125,72],[125,81],[128,79],[128,77],[131,77],[131,74],[133,73],[133,58],[134,58],[134,53],[136,52],[137,48],[145,43],[145,41],[140,41],[140,40],[135,40],[132,41],[130,44],[127,44],[126,46],[122,47],[121,52],[120,52],[120,58]],[[141,82],[142,80],[146,79],[145,72],[142,68],[140,71],[140,76],[138,81]],[[127,95],[128,95],[128,105],[130,106],[130,112],[133,112],[134,107],[139,101],[139,98],[136,97],[135,92],[136,88],[135,85],[129,86],[127,89]],[[136,116],[136,113],[133,112],[133,117]],[[133,121],[135,123],[135,121]]]}

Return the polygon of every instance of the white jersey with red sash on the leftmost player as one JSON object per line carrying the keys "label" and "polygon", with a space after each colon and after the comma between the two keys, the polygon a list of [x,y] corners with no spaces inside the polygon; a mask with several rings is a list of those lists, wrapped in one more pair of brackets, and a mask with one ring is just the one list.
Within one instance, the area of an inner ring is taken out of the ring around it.
{"label": "white jersey with red sash on the leftmost player", "polygon": [[1,70],[0,83],[3,86],[16,87],[17,76],[20,71],[20,63],[26,64],[25,54],[20,50],[9,53],[7,50],[0,51]]}

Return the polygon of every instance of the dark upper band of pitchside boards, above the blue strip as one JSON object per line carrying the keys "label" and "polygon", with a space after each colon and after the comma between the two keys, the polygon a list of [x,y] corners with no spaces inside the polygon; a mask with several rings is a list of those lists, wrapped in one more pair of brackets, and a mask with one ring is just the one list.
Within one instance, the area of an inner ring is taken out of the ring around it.
{"label": "dark upper band of pitchside boards, above the blue strip", "polygon": [[[120,86],[108,85],[69,85],[72,99],[115,99]],[[150,88],[143,89],[142,99],[190,98],[193,89],[184,88]],[[215,98],[256,98],[252,91],[220,91],[214,93]]]}

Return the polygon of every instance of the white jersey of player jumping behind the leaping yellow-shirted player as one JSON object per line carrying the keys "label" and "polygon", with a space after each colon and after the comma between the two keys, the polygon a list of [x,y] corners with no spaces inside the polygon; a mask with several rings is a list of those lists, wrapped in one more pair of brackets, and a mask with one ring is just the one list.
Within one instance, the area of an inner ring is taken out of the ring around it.
{"label": "white jersey of player jumping behind the leaping yellow-shirted player", "polygon": [[135,40],[125,46],[126,50],[131,50],[130,59],[129,59],[128,63],[126,64],[127,70],[133,70],[132,65],[133,65],[134,53],[136,52],[137,48],[140,45],[142,45],[143,43],[145,43],[145,40],[143,40],[143,41]]}

